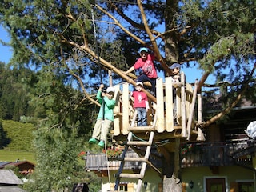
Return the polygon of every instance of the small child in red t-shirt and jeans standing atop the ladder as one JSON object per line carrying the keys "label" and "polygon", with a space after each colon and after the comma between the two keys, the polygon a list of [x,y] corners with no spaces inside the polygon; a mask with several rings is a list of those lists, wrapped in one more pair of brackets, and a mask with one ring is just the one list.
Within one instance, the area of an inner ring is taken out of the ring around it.
{"label": "small child in red t-shirt and jeans standing atop the ladder", "polygon": [[134,97],[134,109],[138,112],[137,126],[147,126],[146,112],[150,109],[146,93],[142,91],[142,88],[143,83],[137,82],[135,86],[136,91],[130,93]]}

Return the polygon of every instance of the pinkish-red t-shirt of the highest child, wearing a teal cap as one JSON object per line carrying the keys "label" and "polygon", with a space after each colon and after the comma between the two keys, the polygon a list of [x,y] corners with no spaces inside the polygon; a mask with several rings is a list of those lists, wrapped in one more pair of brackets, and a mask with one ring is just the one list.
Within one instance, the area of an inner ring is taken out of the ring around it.
{"label": "pinkish-red t-shirt of the highest child, wearing a teal cap", "polygon": [[158,78],[157,70],[154,67],[154,55],[148,54],[146,61],[142,61],[142,58],[138,58],[137,62],[134,64],[134,69],[142,69],[143,73],[149,78]]}

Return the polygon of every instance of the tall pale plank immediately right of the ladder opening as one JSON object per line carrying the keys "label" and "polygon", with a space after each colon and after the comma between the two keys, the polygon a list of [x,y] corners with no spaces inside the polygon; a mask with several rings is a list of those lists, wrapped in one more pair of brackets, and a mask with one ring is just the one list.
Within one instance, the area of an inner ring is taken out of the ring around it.
{"label": "tall pale plank immediately right of the ladder opening", "polygon": [[157,79],[157,130],[159,133],[162,133],[165,130],[164,122],[164,105],[163,105],[163,83],[162,78]]}

